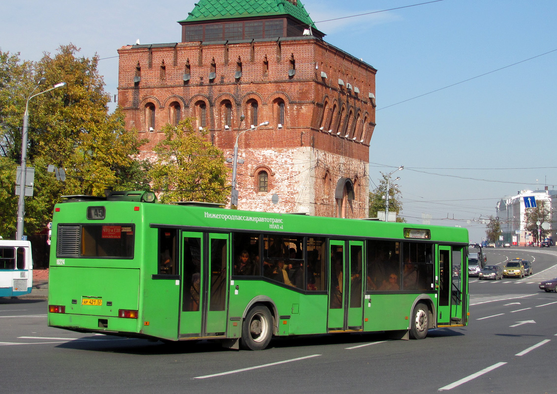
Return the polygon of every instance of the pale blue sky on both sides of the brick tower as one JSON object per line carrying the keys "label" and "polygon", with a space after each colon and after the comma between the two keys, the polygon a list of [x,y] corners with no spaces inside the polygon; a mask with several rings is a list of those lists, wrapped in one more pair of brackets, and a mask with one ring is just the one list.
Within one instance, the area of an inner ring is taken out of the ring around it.
{"label": "pale blue sky on both sides of the brick tower", "polygon": [[[378,69],[370,186],[380,171],[404,165],[394,176],[408,222],[431,215],[432,224],[467,227],[480,241],[485,226],[477,220],[495,215],[500,198],[557,188],[557,2],[442,0],[400,9],[392,8],[424,0],[302,2],[325,41]],[[138,38],[179,41],[176,21],[193,3],[7,2],[0,48],[38,60],[72,42],[84,56],[99,54],[106,90],[116,94],[116,50]],[[385,9],[392,11],[320,22]]]}

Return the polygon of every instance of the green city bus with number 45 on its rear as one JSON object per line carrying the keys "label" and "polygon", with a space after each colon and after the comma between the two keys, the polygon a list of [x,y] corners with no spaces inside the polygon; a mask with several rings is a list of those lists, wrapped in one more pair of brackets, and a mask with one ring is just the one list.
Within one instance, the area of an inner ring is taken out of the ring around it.
{"label": "green city bus with number 45 on its rear", "polygon": [[467,325],[464,228],[107,194],[55,206],[51,327],[258,350],[273,336]]}

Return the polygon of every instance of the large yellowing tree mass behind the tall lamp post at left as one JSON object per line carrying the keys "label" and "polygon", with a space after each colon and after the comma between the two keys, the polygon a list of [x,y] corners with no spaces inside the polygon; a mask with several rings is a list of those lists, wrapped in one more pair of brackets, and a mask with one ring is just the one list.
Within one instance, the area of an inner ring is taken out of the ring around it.
{"label": "large yellowing tree mass behind the tall lamp post at left", "polygon": [[[121,111],[108,113],[109,95],[97,70],[98,57],[78,56],[79,49],[61,46],[55,56],[21,62],[18,55],[0,51],[0,235],[14,234],[17,196],[15,169],[21,160],[21,126],[25,104],[41,77],[61,87],[29,103],[27,165],[35,167],[33,197],[26,197],[25,234],[36,234],[52,219],[53,205],[67,194],[104,195],[104,188],[149,188],[145,163],[134,159],[141,140],[125,130]],[[66,181],[57,181],[47,166],[63,168]],[[12,175],[13,174],[13,175]],[[6,181],[8,178],[12,181]],[[130,187],[135,186],[135,187]]]}

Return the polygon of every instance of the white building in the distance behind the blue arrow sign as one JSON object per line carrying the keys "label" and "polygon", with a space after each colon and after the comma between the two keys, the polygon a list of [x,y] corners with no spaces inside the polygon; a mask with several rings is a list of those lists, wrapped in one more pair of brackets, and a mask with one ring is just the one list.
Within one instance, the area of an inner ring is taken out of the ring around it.
{"label": "white building in the distance behind the blue arrow sign", "polygon": [[502,198],[497,203],[496,212],[501,223],[501,231],[503,242],[510,242],[511,245],[516,243],[518,246],[529,245],[530,242],[535,242],[537,239],[536,234],[531,234],[526,230],[525,220],[525,202],[524,197],[534,196],[536,204],[544,203],[550,212],[550,240],[557,239],[555,232],[557,228],[557,216],[554,215],[551,207],[557,207],[557,191],[549,190],[546,186],[544,190],[522,190],[517,192],[516,196]]}

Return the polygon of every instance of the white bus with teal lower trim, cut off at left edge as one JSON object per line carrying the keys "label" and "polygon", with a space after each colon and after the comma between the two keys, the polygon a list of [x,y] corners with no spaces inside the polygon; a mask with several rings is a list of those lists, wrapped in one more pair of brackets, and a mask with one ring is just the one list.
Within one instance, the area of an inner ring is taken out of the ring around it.
{"label": "white bus with teal lower trim, cut off at left edge", "polygon": [[0,297],[28,294],[32,287],[31,242],[0,240]]}

